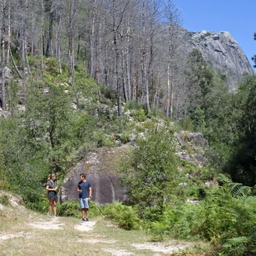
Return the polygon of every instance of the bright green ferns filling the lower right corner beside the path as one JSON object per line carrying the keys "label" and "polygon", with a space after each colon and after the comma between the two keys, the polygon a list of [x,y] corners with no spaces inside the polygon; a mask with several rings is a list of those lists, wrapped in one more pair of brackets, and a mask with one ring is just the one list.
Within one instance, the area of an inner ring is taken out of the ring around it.
{"label": "bright green ferns filling the lower right corner beside the path", "polygon": [[250,188],[223,175],[219,180],[223,185],[205,189],[198,204],[176,202],[175,208],[168,207],[167,219],[159,216],[152,227],[157,237],[209,240],[225,255],[250,252],[255,242],[255,198]]}

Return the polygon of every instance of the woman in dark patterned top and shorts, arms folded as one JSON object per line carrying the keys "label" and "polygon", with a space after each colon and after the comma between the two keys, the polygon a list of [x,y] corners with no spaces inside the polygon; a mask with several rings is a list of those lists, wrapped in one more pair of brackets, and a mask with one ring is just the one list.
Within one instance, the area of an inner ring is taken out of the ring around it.
{"label": "woman in dark patterned top and shorts, arms folded", "polygon": [[57,203],[57,181],[56,175],[49,175],[47,181],[47,191],[49,199],[49,215],[52,216],[52,209],[54,209],[54,217],[56,217],[56,203]]}

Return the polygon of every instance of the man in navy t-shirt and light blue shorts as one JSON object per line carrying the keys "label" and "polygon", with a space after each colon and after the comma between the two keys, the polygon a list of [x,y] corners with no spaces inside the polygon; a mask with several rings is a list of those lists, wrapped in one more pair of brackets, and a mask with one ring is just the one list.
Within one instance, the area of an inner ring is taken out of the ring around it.
{"label": "man in navy t-shirt and light blue shorts", "polygon": [[80,175],[80,181],[78,183],[79,200],[81,206],[81,220],[89,221],[89,204],[88,202],[92,198],[92,185],[85,179],[85,174]]}

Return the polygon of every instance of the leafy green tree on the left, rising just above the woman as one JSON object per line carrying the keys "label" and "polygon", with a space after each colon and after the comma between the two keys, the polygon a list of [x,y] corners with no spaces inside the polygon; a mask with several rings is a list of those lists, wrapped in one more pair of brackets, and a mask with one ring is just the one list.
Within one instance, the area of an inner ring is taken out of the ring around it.
{"label": "leafy green tree on the left, rising just above the woman", "polygon": [[27,138],[31,147],[49,161],[53,171],[61,171],[58,160],[64,157],[64,141],[72,131],[71,98],[59,85],[49,87],[48,92],[42,91],[34,88],[29,92],[25,113]]}

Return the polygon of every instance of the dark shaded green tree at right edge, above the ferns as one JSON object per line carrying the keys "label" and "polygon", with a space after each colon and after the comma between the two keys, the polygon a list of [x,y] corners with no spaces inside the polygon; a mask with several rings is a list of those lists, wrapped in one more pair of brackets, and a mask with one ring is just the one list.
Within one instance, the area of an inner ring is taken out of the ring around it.
{"label": "dark shaded green tree at right edge, above the ferns", "polygon": [[[237,140],[228,166],[235,182],[254,185],[256,178],[256,76],[247,76],[240,84],[237,95],[235,121]],[[233,109],[234,111],[234,109]]]}

